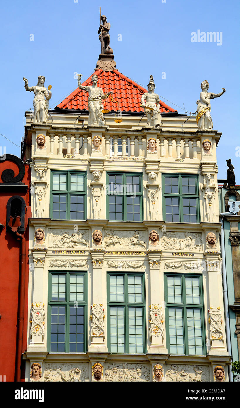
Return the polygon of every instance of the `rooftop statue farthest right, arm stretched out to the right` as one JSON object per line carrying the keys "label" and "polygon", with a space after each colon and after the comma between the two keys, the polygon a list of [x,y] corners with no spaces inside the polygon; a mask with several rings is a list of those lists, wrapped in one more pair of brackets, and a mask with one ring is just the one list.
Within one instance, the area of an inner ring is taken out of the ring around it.
{"label": "rooftop statue farthest right, arm stretched out to the right", "polygon": [[197,107],[197,125],[199,130],[212,130],[213,122],[211,120],[211,105],[210,99],[219,98],[226,92],[225,88],[222,88],[220,93],[207,92],[209,83],[207,80],[201,83],[202,92],[200,92],[200,100],[198,99]]}

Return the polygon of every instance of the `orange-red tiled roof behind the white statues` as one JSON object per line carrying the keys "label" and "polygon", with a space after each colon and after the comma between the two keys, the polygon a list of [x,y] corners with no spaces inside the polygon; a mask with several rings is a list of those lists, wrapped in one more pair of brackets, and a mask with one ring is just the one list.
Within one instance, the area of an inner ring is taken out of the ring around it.
{"label": "orange-red tiled roof behind the white statues", "polygon": [[[148,92],[141,85],[137,84],[130,78],[123,75],[121,72],[114,69],[113,71],[103,71],[98,69],[95,71],[98,75],[98,86],[102,88],[103,93],[109,91],[113,92],[112,98],[119,103],[119,109],[126,112],[143,112],[140,108],[141,96],[144,92]],[[82,85],[91,85],[92,75],[82,83]],[[110,98],[107,99],[109,110],[116,111],[117,104],[111,102]],[[82,91],[77,88],[67,98],[65,98],[60,104],[56,106],[60,109],[88,109],[88,92]],[[160,101],[161,112],[176,112],[170,106]]]}

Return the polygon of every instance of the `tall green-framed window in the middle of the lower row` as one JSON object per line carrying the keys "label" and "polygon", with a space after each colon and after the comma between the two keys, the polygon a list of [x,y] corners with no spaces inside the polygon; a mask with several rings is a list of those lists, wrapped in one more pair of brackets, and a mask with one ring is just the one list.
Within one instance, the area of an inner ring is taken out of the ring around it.
{"label": "tall green-framed window in the middle of the lower row", "polygon": [[107,297],[110,353],[145,353],[144,274],[109,272]]}

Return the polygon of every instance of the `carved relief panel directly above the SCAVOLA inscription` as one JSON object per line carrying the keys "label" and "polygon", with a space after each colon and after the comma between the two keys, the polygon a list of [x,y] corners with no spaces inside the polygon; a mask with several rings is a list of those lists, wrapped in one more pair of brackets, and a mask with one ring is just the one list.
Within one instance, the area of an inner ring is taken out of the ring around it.
{"label": "carved relief panel directly above the SCAVOLA inscription", "polygon": [[165,232],[161,237],[161,245],[165,249],[201,251],[203,248],[202,234]]}

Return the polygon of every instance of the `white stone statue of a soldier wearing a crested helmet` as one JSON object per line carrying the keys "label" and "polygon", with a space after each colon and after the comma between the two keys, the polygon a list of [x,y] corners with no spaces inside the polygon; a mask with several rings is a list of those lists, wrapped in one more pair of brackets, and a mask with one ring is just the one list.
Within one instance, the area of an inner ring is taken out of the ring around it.
{"label": "white stone statue of a soldier wearing a crested helmet", "polygon": [[[144,108],[144,113],[147,116],[148,126],[157,127],[161,126],[162,118],[160,111],[159,95],[154,93],[155,84],[153,76],[150,75],[150,81],[148,84],[148,92],[143,93],[141,97],[141,108]],[[146,103],[145,103],[146,101]]]}

